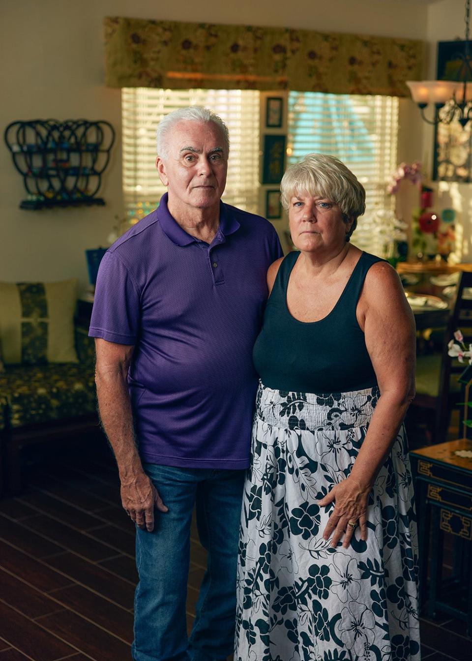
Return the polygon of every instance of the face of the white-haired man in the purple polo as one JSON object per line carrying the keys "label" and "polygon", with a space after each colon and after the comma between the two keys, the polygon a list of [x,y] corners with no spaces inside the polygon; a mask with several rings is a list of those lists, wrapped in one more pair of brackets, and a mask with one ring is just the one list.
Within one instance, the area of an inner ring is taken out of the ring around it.
{"label": "face of the white-haired man in the purple polo", "polygon": [[178,122],[167,136],[167,157],[157,157],[159,177],[169,191],[173,214],[219,208],[226,184],[227,153],[214,122]]}

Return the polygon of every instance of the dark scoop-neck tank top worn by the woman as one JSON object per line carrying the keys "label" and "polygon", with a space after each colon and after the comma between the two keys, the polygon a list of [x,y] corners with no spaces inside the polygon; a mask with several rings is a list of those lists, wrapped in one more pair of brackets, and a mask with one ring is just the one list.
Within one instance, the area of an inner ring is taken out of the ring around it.
{"label": "dark scoop-neck tank top worn by the woman", "polygon": [[333,310],[319,321],[297,321],[287,286],[299,253],[280,264],[267,301],[253,360],[264,385],[296,393],[346,393],[377,383],[356,307],[366,273],[379,257],[362,253]]}

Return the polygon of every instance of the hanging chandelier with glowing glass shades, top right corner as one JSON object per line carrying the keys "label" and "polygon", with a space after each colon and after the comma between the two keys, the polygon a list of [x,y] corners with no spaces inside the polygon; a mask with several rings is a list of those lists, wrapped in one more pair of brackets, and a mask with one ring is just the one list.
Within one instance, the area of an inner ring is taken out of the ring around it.
{"label": "hanging chandelier with glowing glass shades, top right corner", "polygon": [[[469,40],[471,0],[465,1],[465,48],[457,51],[453,59],[459,62],[457,77],[453,81],[407,81],[411,97],[420,108],[421,116],[428,124],[450,124],[455,118],[462,128],[472,118],[472,68]],[[424,108],[434,103],[436,112],[430,120]]]}

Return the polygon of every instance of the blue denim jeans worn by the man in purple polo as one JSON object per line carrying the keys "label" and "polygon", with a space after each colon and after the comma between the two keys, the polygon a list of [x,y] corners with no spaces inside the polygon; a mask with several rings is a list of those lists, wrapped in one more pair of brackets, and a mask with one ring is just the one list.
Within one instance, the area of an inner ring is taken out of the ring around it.
{"label": "blue denim jeans worn by the man in purple polo", "polygon": [[[245,471],[145,464],[169,508],[155,512],[153,532],[136,528],[139,583],[134,598],[135,661],[223,661],[233,653],[236,565]],[[208,564],[187,640],[185,602],[190,522]]]}

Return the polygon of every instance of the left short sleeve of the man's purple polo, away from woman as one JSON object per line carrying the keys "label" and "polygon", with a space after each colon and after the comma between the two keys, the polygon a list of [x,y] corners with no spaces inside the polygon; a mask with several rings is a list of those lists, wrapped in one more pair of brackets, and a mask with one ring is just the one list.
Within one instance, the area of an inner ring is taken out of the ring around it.
{"label": "left short sleeve of the man's purple polo, away from woman", "polygon": [[105,253],[98,269],[89,336],[117,344],[136,344],[139,293],[116,251]]}

